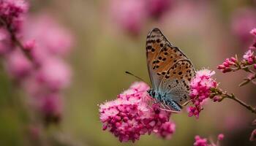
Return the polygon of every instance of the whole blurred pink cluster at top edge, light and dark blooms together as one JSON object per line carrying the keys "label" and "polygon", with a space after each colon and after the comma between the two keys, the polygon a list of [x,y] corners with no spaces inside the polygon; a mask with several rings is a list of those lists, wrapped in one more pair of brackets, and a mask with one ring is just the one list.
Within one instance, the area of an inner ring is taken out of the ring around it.
{"label": "whole blurred pink cluster at top edge, light and dark blooms together", "polygon": [[148,18],[160,18],[173,0],[111,0],[110,10],[113,19],[121,28],[138,34]]}

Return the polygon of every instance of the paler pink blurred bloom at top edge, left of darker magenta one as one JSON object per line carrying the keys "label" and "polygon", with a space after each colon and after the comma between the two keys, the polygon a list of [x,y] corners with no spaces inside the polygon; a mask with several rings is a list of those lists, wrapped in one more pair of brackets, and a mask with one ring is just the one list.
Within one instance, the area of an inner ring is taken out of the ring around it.
{"label": "paler pink blurred bloom at top edge, left of darker magenta one", "polygon": [[110,10],[116,23],[132,34],[140,32],[147,18],[144,0],[111,0]]}

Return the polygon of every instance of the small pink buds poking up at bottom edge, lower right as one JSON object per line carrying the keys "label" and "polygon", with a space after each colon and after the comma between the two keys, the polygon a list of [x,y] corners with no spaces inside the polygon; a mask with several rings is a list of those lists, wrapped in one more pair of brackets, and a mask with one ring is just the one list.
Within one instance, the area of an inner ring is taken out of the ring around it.
{"label": "small pink buds poking up at bottom edge, lower right", "polygon": [[224,134],[219,134],[217,143],[214,144],[213,142],[208,143],[208,140],[206,138],[201,138],[197,135],[195,136],[194,146],[219,146],[219,141],[222,141],[223,139],[224,139]]}

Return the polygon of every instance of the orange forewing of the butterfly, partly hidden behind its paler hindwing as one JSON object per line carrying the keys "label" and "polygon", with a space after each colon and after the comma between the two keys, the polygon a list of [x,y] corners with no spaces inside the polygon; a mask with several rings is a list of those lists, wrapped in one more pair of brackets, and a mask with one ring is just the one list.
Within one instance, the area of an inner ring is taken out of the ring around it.
{"label": "orange forewing of the butterfly, partly hidden behind its paler hindwing", "polygon": [[[161,77],[157,76],[157,66],[154,66],[153,61],[156,60],[162,47],[170,45],[170,42],[165,38],[159,28],[154,28],[148,33],[146,39],[146,57],[148,65],[148,74],[151,80],[152,88],[158,89],[159,84],[162,80]],[[154,69],[153,69],[154,66]]]}

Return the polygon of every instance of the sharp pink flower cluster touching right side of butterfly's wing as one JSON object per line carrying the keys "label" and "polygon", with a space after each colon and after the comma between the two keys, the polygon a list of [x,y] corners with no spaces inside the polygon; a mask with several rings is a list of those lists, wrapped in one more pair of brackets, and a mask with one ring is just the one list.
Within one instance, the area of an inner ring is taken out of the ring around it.
{"label": "sharp pink flower cluster touching right side of butterfly's wing", "polygon": [[202,104],[205,99],[210,97],[211,88],[217,87],[217,82],[211,78],[215,74],[214,71],[203,69],[196,72],[195,77],[190,82],[190,98],[193,106],[188,108],[189,117],[195,115],[199,117],[199,113],[203,110]]}

